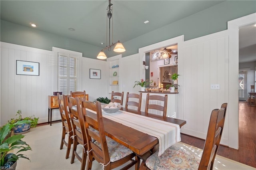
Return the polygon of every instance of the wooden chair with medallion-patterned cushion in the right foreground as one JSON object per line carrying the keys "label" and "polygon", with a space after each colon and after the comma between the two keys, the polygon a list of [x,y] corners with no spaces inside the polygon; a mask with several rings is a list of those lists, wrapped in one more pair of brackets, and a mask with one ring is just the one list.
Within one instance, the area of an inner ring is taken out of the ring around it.
{"label": "wooden chair with medallion-patterned cushion in the right foreground", "polygon": [[[223,103],[221,109],[214,109],[210,116],[204,150],[201,156],[194,156],[183,148],[172,145],[161,156],[152,154],[145,162],[150,170],[162,169],[191,169],[212,170],[220,139],[222,136],[226,117],[227,103]],[[142,162],[142,166],[145,166]]]}

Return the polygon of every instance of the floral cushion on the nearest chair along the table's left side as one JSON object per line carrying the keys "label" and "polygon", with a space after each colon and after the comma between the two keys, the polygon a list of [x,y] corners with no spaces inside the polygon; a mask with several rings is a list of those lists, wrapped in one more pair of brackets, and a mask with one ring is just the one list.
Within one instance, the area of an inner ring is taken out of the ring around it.
{"label": "floral cushion on the nearest chair along the table's left side", "polygon": [[[110,157],[110,162],[115,162],[117,160],[120,160],[132,153],[130,149],[126,148],[122,144],[119,144],[115,140],[112,140],[108,136],[106,136],[106,141],[108,145],[108,154]],[[101,145],[99,142],[95,141],[94,143],[101,148]]]}

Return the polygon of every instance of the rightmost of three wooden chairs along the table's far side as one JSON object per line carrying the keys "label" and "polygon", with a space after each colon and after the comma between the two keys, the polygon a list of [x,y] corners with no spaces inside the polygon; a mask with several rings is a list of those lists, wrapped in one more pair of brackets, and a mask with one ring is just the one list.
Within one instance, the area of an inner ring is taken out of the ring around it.
{"label": "rightmost of three wooden chairs along the table's far side", "polygon": [[[160,96],[160,95],[149,95],[146,97],[146,107],[145,113],[148,113],[148,109],[154,109],[163,112],[163,116],[166,117],[167,113],[167,99],[168,95]],[[164,102],[164,105],[158,105],[158,103]],[[156,104],[154,104],[156,103]]]}

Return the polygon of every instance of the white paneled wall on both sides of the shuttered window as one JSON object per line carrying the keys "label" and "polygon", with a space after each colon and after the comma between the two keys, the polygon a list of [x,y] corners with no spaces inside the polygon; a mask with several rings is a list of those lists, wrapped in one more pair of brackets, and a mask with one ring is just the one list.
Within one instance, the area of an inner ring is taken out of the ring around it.
{"label": "white paneled wall on both sides of the shuttered window", "polygon": [[[58,55],[54,54],[53,51],[1,42],[0,125],[14,118],[18,109],[22,110],[23,117],[35,115],[39,117],[38,123],[48,122],[48,95],[58,90]],[[39,62],[39,76],[16,75],[16,60]],[[86,90],[90,101],[107,96],[106,61],[80,56],[78,62],[78,90]],[[101,79],[90,79],[90,68],[100,69]],[[60,120],[58,109],[52,110],[52,120]]]}

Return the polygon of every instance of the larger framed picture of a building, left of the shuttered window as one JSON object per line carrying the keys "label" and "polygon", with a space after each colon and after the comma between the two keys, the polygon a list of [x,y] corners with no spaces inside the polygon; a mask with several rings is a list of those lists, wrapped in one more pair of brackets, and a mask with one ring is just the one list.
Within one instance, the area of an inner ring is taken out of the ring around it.
{"label": "larger framed picture of a building, left of the shuttered window", "polygon": [[39,75],[39,63],[16,60],[17,75]]}

